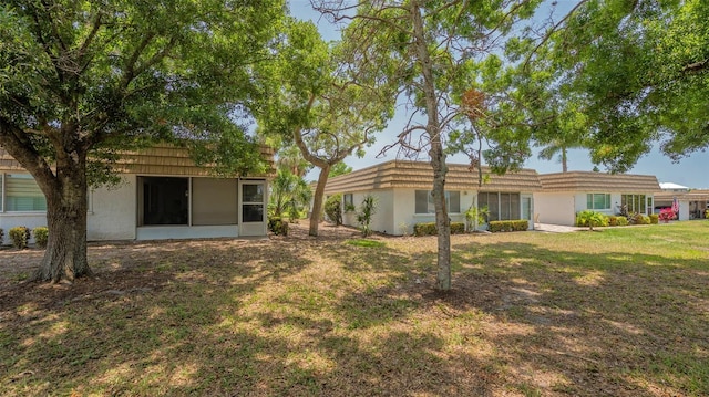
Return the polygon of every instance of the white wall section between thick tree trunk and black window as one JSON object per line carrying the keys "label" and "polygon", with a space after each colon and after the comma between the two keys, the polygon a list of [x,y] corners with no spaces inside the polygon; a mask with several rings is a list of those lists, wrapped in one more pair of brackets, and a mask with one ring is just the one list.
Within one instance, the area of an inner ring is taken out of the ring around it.
{"label": "white wall section between thick tree trunk and black window", "polygon": [[113,188],[99,188],[91,192],[86,216],[86,239],[133,240],[137,196],[135,175],[123,175],[122,182]]}

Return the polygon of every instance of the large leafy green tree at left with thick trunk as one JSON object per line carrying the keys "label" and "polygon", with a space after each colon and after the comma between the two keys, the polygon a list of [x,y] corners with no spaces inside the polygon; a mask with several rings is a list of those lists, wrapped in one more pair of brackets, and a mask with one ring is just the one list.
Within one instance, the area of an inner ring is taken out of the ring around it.
{"label": "large leafy green tree at left with thick trunk", "polygon": [[73,280],[86,261],[92,161],[152,139],[218,145],[201,159],[258,164],[238,119],[264,94],[280,0],[9,0],[0,6],[0,146],[47,197],[37,278]]}

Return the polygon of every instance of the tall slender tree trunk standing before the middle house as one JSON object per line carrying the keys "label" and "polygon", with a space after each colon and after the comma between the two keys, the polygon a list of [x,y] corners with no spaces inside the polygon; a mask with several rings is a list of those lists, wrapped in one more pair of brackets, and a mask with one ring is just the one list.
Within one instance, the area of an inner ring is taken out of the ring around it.
{"label": "tall slender tree trunk standing before the middle house", "polygon": [[435,226],[439,231],[439,272],[436,286],[440,291],[451,289],[451,223],[445,208],[445,154],[441,142],[439,123],[439,102],[435,92],[435,80],[429,46],[425,40],[423,19],[417,1],[411,1],[411,19],[413,25],[413,45],[423,75],[422,90],[428,115],[427,133],[431,139],[431,167],[433,168],[433,205],[435,207]]}

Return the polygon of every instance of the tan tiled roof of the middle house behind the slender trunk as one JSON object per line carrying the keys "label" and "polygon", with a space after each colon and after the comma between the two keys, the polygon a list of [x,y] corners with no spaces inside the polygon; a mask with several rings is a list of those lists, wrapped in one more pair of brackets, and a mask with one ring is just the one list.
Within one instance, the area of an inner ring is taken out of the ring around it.
{"label": "tan tiled roof of the middle house behind the slender trunk", "polygon": [[[446,166],[449,169],[445,176],[446,190],[538,191],[542,189],[537,174],[533,169],[490,175],[489,181],[479,188],[477,173],[471,170],[469,165],[448,164]],[[483,167],[483,174],[490,174],[490,170]],[[429,163],[391,160],[330,178],[325,192],[331,195],[392,188],[430,190],[432,187],[433,169]]]}

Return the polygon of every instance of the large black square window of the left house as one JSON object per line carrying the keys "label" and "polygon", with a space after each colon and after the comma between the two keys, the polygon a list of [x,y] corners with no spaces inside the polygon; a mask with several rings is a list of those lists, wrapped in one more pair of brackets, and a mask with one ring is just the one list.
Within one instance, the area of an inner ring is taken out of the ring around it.
{"label": "large black square window of the left house", "polygon": [[142,177],[138,187],[141,224],[187,224],[188,178]]}

